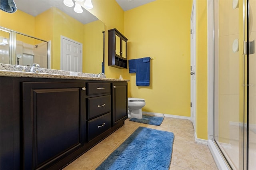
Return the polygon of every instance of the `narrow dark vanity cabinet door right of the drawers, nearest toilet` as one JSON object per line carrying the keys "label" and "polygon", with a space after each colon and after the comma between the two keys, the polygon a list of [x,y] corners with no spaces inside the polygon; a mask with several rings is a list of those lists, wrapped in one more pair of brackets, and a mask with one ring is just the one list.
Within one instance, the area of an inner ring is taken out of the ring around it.
{"label": "narrow dark vanity cabinet door right of the drawers, nearest toilet", "polygon": [[112,83],[112,126],[128,118],[127,82]]}

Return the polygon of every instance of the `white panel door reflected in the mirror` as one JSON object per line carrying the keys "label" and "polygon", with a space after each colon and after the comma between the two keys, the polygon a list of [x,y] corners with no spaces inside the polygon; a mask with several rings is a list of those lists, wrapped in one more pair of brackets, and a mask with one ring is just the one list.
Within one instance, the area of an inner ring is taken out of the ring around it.
{"label": "white panel door reflected in the mirror", "polygon": [[61,37],[61,70],[82,72],[82,44],[74,40]]}

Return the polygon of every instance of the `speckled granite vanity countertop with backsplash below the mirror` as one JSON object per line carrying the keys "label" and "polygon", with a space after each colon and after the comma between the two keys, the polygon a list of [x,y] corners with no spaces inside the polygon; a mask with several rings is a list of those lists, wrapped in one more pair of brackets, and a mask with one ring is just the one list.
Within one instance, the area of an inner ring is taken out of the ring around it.
{"label": "speckled granite vanity countertop with backsplash below the mirror", "polygon": [[[22,71],[23,69],[25,69],[25,71]],[[16,65],[0,64],[0,76],[33,77],[33,78],[49,78],[49,79],[129,81],[126,79],[110,79],[110,78],[106,78],[105,75],[100,75],[100,77],[98,77],[98,74],[93,74],[93,73],[79,73],[79,72],[70,72],[70,71],[44,69],[44,68],[35,68],[35,69],[38,69],[38,73],[28,72],[30,70],[30,67],[26,67],[26,66],[18,67]]]}

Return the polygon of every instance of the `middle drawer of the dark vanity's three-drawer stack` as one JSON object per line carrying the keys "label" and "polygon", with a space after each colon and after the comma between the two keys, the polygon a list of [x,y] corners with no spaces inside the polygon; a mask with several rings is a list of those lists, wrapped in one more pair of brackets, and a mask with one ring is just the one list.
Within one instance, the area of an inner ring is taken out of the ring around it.
{"label": "middle drawer of the dark vanity's three-drawer stack", "polygon": [[87,119],[111,111],[111,96],[91,97],[87,99]]}

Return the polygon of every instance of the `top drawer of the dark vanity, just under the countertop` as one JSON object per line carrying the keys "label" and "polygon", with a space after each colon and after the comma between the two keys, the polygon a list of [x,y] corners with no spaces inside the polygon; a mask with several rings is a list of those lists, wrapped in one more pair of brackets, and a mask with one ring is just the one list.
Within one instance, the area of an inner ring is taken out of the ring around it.
{"label": "top drawer of the dark vanity, just under the countertop", "polygon": [[110,83],[87,83],[87,95],[110,93]]}

